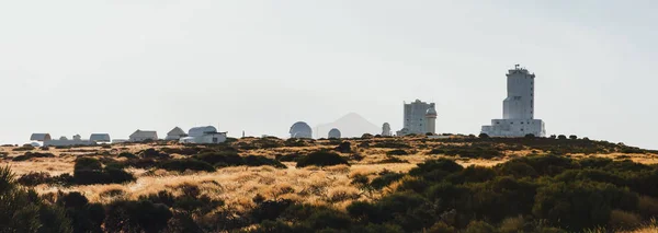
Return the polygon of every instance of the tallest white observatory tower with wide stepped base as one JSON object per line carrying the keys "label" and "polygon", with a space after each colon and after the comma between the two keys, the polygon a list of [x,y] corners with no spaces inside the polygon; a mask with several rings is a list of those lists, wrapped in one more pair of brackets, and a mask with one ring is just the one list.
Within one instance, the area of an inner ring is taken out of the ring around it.
{"label": "tallest white observatory tower with wide stepped base", "polygon": [[483,126],[483,133],[490,137],[545,137],[544,121],[534,119],[534,79],[519,65],[508,70],[508,96],[502,102],[502,119],[492,119],[490,126]]}

